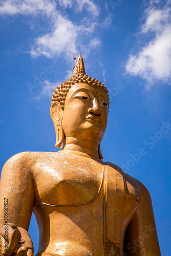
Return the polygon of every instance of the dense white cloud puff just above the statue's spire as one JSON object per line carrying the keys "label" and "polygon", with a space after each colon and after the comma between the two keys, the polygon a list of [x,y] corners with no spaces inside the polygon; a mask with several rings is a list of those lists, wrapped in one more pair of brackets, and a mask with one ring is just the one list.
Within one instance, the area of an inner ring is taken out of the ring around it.
{"label": "dense white cloud puff just above the statue's spire", "polygon": [[80,44],[78,39],[85,34],[89,35],[89,33],[92,33],[95,26],[95,23],[92,23],[90,27],[86,25],[77,26],[73,24],[71,20],[58,15],[53,25],[53,31],[36,38],[30,53],[33,57],[45,55],[48,58],[55,55],[59,56],[62,53],[71,57],[72,52],[75,53],[79,51],[81,51],[82,54],[86,52],[88,54],[91,49],[101,44],[100,39],[95,37],[90,43],[86,42],[86,45]]}

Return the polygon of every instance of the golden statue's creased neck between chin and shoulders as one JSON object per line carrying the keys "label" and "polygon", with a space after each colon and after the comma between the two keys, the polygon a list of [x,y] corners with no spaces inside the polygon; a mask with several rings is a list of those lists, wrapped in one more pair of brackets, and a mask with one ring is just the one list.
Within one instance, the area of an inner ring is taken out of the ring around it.
{"label": "golden statue's creased neck between chin and shoulders", "polygon": [[98,147],[99,145],[96,142],[68,137],[66,138],[66,145],[63,150],[77,151],[99,157]]}

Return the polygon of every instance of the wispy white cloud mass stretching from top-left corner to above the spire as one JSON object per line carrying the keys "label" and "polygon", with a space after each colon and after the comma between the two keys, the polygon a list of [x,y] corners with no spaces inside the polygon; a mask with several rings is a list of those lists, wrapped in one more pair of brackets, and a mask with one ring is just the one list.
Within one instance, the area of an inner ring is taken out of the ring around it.
{"label": "wispy white cloud mass stretching from top-left corner to above the spire", "polygon": [[[73,22],[59,13],[55,0],[0,0],[0,14],[17,13],[32,16],[41,14],[48,18],[49,31],[35,38],[29,51],[32,57],[44,55],[51,58],[61,53],[71,55],[72,52],[79,52],[81,48],[90,50],[99,46],[100,40],[97,38],[94,38],[91,43],[85,40],[85,35],[89,36],[93,33],[98,25],[95,19],[99,15],[97,5],[91,0],[60,0],[58,4],[63,8],[74,7],[78,12],[86,9],[91,16],[87,18],[83,13],[83,18],[78,24],[76,20]],[[83,41],[81,36],[83,36]]]}

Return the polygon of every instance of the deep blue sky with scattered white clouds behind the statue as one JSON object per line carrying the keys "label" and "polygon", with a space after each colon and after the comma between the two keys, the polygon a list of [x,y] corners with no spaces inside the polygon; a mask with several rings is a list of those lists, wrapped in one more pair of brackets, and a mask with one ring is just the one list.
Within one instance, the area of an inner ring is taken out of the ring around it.
{"label": "deep blue sky with scattered white clouds behind the statue", "polygon": [[[161,253],[170,255],[171,1],[7,0],[1,19],[1,168],[14,154],[57,151],[54,88],[72,53],[110,94],[104,161],[152,196]],[[30,230],[35,252],[38,229]]]}

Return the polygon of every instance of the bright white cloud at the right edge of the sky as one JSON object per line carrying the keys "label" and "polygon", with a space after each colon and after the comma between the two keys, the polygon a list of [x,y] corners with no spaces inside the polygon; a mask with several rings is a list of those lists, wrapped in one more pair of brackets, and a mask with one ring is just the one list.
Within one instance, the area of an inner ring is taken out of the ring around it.
{"label": "bright white cloud at the right edge of the sky", "polygon": [[[153,1],[157,3],[156,1]],[[127,73],[139,75],[147,81],[146,89],[157,80],[171,80],[171,8],[149,7],[141,33],[152,37],[137,54],[131,54],[126,62]]]}

